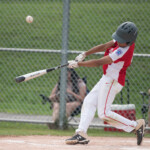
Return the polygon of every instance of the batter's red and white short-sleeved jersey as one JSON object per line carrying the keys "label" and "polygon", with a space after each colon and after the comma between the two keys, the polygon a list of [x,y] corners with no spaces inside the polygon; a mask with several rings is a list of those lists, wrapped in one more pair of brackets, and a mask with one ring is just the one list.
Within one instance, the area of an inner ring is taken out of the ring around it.
{"label": "batter's red and white short-sleeved jersey", "polygon": [[117,42],[114,46],[107,49],[104,56],[109,55],[113,63],[103,65],[103,72],[105,75],[112,77],[121,85],[125,85],[126,70],[130,66],[135,43],[131,46],[119,47]]}

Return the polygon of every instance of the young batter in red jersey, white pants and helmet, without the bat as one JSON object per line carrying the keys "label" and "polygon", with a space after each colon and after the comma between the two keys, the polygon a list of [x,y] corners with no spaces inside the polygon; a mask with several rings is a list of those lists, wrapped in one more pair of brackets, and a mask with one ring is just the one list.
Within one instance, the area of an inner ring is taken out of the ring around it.
{"label": "young batter in red jersey, white pants and helmet, without the bat", "polygon": [[[88,144],[87,129],[94,118],[96,109],[100,119],[126,132],[135,131],[137,144],[142,143],[145,129],[144,119],[131,121],[112,112],[111,105],[117,93],[125,85],[126,70],[130,66],[138,29],[132,22],[124,22],[113,33],[112,41],[98,45],[68,61],[69,68],[103,66],[103,76],[85,97],[81,119],[76,134],[66,144]],[[83,61],[86,56],[105,51],[104,57]]]}

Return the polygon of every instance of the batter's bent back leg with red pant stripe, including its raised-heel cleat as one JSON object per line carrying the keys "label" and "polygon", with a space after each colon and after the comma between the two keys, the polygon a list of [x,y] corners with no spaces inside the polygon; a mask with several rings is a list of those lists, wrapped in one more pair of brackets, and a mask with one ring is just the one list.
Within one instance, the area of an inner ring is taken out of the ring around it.
{"label": "batter's bent back leg with red pant stripe, including its raised-heel cleat", "polygon": [[141,143],[142,137],[144,134],[143,128],[144,128],[145,122],[143,120],[139,120],[137,121],[138,122],[137,123],[136,121],[131,121],[115,112],[112,112],[111,105],[114,101],[116,94],[121,91],[122,86],[118,82],[112,80],[109,77],[105,76],[102,79],[103,79],[102,80],[103,84],[101,85],[102,88],[98,96],[99,117],[107,121],[112,126],[118,129],[123,129],[126,132],[131,132],[134,129],[136,129],[136,131],[138,132],[138,130],[142,128],[140,129],[143,132],[142,135],[139,135],[139,132],[138,132],[138,143]]}

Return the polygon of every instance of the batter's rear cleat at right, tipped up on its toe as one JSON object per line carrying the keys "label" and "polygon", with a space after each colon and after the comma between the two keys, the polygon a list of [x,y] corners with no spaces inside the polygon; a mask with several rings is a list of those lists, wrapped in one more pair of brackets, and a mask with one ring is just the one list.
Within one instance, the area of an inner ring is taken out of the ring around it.
{"label": "batter's rear cleat at right, tipped up on its toe", "polygon": [[145,130],[144,119],[137,120],[137,126],[135,130],[136,130],[136,136],[137,136],[137,145],[141,145],[143,137],[144,137],[144,130]]}

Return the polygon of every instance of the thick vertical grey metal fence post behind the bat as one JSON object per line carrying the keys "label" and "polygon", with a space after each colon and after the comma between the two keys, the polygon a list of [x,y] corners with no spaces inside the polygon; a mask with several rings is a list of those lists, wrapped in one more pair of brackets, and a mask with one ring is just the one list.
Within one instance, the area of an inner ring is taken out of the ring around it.
{"label": "thick vertical grey metal fence post behind the bat", "polygon": [[[62,51],[61,51],[61,64],[67,63],[67,51],[68,51],[68,33],[69,33],[69,10],[70,0],[63,1],[63,28],[62,28]],[[60,81],[60,107],[59,107],[59,128],[63,129],[66,123],[66,80],[67,69],[66,67],[61,69],[61,81]]]}

